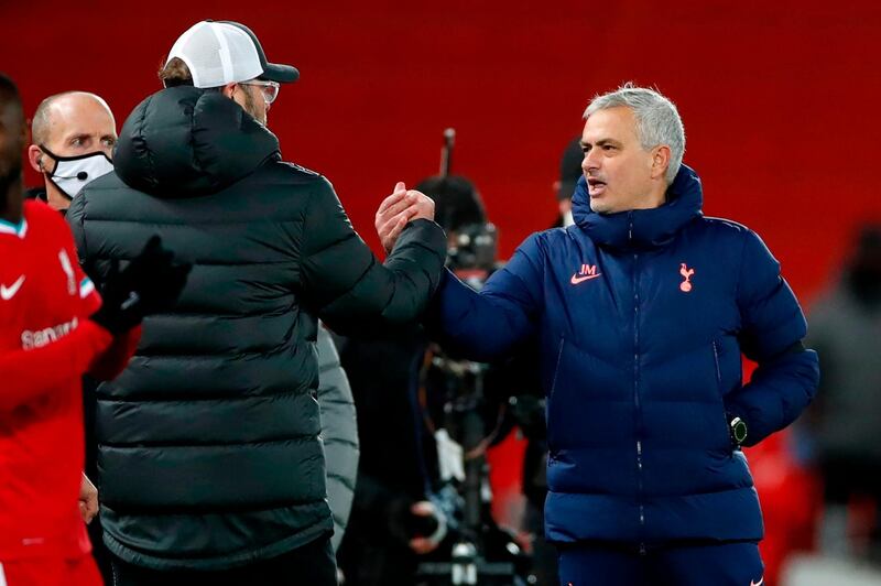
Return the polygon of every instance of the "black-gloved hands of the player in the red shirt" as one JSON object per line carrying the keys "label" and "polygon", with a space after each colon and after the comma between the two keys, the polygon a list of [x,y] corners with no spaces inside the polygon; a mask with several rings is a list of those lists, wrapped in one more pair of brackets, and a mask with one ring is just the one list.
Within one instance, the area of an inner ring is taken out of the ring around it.
{"label": "black-gloved hands of the player in the red shirt", "polygon": [[122,271],[116,264],[101,287],[101,307],[91,321],[115,336],[141,323],[145,315],[170,308],[181,295],[192,265],[174,262],[159,236],[144,245]]}

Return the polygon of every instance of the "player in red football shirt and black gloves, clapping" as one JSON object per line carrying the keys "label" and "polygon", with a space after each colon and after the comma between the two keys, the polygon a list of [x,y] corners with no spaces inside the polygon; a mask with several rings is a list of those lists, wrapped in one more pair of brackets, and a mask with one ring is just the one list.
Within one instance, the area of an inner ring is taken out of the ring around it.
{"label": "player in red football shirt and black gloves, clapping", "polygon": [[23,202],[25,141],[18,89],[0,74],[0,585],[91,586],[80,376],[124,368],[141,319],[176,300],[188,267],[151,239],[111,272],[102,303],[64,219]]}

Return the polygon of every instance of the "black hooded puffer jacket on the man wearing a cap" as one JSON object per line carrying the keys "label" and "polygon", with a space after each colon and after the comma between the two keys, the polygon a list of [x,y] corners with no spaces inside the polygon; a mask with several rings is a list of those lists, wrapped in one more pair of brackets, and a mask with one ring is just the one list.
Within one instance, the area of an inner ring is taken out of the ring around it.
{"label": "black hooded puffer jacket on the man wearing a cap", "polygon": [[115,166],[67,216],[87,272],[100,281],[153,234],[194,267],[98,391],[107,545],[157,569],[222,569],[329,532],[316,318],[360,333],[415,319],[443,230],[411,223],[381,264],[327,180],[282,162],[236,102],[193,87],[134,109]]}

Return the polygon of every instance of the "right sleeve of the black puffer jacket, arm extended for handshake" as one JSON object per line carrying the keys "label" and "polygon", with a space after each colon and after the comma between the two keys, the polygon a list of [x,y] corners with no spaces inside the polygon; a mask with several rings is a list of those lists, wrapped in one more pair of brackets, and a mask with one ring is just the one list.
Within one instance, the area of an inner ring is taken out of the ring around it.
{"label": "right sleeve of the black puffer jacket, arm extended for handshake", "polygon": [[330,184],[320,181],[303,223],[301,282],[308,302],[340,334],[416,319],[440,280],[444,230],[425,219],[411,221],[380,263],[352,229]]}

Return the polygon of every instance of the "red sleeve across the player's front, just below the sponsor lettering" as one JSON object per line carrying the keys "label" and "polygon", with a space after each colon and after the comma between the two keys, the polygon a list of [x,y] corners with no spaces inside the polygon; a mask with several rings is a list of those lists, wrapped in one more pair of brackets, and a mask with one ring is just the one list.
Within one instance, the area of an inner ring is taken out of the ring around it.
{"label": "red sleeve across the player's front, just below the sponsor lettering", "polygon": [[112,339],[101,326],[83,319],[75,330],[47,346],[0,354],[0,411],[11,411],[70,381],[78,383]]}

